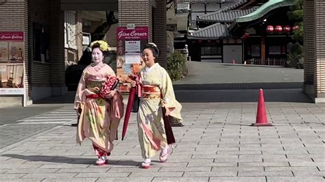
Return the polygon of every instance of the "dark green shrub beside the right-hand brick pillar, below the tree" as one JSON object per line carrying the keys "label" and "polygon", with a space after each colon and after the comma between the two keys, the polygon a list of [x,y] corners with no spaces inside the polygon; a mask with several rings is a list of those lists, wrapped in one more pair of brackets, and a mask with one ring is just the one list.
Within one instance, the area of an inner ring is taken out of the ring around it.
{"label": "dark green shrub beside the right-hand brick pillar, below the tree", "polygon": [[296,44],[292,44],[291,48],[289,49],[289,54],[287,55],[289,66],[293,68],[302,68],[304,64],[304,58],[302,57],[302,55],[302,45],[299,44],[299,42],[296,42]]}

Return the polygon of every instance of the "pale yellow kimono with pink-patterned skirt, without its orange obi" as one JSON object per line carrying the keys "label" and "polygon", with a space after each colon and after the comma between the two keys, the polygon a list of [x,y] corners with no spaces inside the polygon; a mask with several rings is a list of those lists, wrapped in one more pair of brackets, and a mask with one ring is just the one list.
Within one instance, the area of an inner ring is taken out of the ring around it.
{"label": "pale yellow kimono with pink-patterned skirt, without its orange obi", "polygon": [[[173,108],[170,116],[176,120],[182,120],[180,115],[182,105],[176,101],[173,84],[165,68],[158,63],[150,68],[145,67],[141,71],[141,82],[143,86],[157,86],[158,92],[161,92],[161,99],[165,102],[165,107]],[[145,94],[143,93],[143,95]],[[156,151],[167,146],[161,99],[160,96],[143,96],[140,101],[137,117],[138,134],[144,159],[153,157]]]}

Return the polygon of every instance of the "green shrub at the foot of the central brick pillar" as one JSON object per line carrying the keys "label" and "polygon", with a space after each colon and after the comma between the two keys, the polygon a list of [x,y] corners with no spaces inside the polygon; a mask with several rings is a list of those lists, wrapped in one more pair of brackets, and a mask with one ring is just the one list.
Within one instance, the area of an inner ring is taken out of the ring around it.
{"label": "green shrub at the foot of the central brick pillar", "polygon": [[172,81],[181,79],[186,75],[186,55],[173,53],[167,57],[167,72]]}

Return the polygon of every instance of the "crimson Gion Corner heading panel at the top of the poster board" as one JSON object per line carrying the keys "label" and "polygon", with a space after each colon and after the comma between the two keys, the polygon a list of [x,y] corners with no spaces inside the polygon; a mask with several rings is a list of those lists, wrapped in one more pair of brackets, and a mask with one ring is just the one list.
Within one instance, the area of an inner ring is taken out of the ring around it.
{"label": "crimson Gion Corner heading panel at the top of the poster board", "polygon": [[148,27],[134,27],[134,29],[117,27],[118,40],[142,40],[148,38]]}

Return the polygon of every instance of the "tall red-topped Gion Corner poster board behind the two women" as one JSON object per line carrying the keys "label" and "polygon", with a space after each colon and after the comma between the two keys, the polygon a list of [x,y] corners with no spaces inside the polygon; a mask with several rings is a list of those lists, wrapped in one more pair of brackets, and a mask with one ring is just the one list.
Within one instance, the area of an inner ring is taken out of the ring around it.
{"label": "tall red-topped Gion Corner poster board behind the two women", "polygon": [[148,30],[148,27],[117,27],[117,77],[121,92],[129,92],[131,88],[128,75],[139,73],[144,66],[141,51],[148,43]]}

